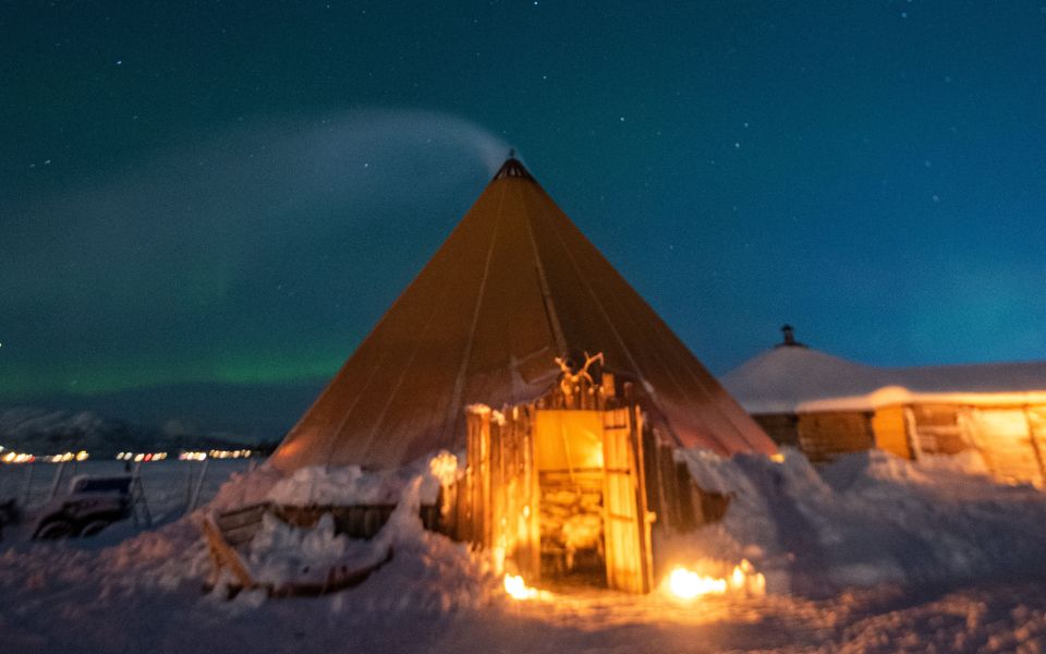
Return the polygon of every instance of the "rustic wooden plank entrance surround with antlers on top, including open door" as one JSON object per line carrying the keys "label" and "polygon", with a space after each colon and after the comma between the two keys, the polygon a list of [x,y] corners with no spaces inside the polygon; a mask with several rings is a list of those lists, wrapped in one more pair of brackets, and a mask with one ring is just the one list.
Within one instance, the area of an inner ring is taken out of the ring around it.
{"label": "rustic wooden plank entrance surround with antlers on top, including open door", "polygon": [[[485,405],[466,411],[467,465],[448,494],[452,504],[446,507],[445,533],[488,549],[499,569],[538,582],[537,446],[544,428],[538,423],[546,422],[538,416],[586,412],[582,423],[600,425],[607,583],[627,592],[649,592],[654,579],[664,573],[655,534],[685,533],[714,522],[722,517],[729,497],[697,487],[677,457],[674,440],[647,420],[631,383],[616,385],[606,371],[594,380],[587,365],[576,374],[561,365],[559,383],[534,402],[501,411]],[[598,423],[589,420],[593,416]]]}

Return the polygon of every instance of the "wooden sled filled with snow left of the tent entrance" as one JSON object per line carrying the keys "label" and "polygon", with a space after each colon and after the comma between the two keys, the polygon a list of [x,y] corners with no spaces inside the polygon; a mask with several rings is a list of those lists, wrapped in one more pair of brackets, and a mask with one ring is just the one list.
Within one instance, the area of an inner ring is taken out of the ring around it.
{"label": "wooden sled filled with snow left of the tent entrance", "polygon": [[[327,571],[324,581],[287,582],[272,584],[258,582],[243,560],[240,550],[244,548],[262,528],[266,513],[281,518],[279,507],[265,502],[251,505],[218,516],[207,516],[200,522],[200,530],[207,538],[210,552],[211,574],[204,583],[204,590],[210,592],[218,585],[222,570],[229,570],[235,579],[227,584],[232,598],[243,590],[263,590],[269,597],[301,597],[325,595],[360,585],[372,572],[392,560],[392,547],[389,546],[384,558],[358,568],[335,566]],[[281,518],[282,519],[282,518]]]}

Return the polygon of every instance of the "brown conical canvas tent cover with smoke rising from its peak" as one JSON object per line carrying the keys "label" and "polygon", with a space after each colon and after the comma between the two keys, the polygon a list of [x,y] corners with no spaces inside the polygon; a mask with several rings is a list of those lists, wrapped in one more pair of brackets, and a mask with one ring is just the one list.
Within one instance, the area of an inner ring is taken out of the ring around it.
{"label": "brown conical canvas tent cover with smoke rising from its peak", "polygon": [[465,440],[464,408],[532,401],[555,356],[603,352],[682,446],[773,441],[510,158],[431,261],[291,429],[281,470],[394,467]]}

